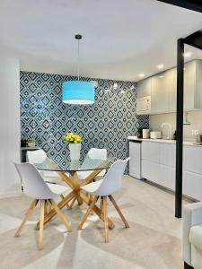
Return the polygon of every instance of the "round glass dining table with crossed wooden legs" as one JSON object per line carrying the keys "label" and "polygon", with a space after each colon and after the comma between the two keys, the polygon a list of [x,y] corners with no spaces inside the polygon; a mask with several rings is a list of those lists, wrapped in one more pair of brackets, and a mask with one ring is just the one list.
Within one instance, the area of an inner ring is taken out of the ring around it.
{"label": "round glass dining table with crossed wooden legs", "polygon": [[[62,209],[66,205],[69,208],[72,208],[72,205],[77,200],[78,204],[88,204],[92,203],[92,195],[86,195],[81,187],[89,184],[92,180],[98,176],[103,169],[109,169],[110,165],[117,161],[118,159],[115,158],[107,158],[106,160],[100,159],[92,159],[90,157],[86,157],[83,161],[52,161],[51,159],[47,158],[45,161],[40,163],[33,163],[36,169],[40,171],[54,171],[57,172],[59,178],[66,182],[66,185],[71,188],[71,192],[68,195],[61,195],[61,201],[57,204],[57,206]],[[78,178],[78,172],[80,171],[87,171],[83,173],[85,178],[80,180]],[[69,203],[71,204],[69,205]],[[96,213],[101,220],[103,221],[103,215],[101,213],[101,209],[94,205],[92,211]],[[54,209],[51,209],[48,213],[46,213],[44,217],[44,224],[50,221],[56,212]],[[114,223],[109,219],[109,228],[114,228]],[[37,224],[37,229],[40,228],[40,222]]]}

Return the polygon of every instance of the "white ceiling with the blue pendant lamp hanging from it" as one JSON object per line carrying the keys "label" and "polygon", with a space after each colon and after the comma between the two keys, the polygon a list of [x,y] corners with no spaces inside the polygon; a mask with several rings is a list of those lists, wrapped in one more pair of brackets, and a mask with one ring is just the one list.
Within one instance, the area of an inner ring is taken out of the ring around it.
{"label": "white ceiling with the blue pendant lamp hanging from it", "polygon": [[[0,0],[0,43],[21,69],[138,81],[176,65],[176,40],[202,28],[202,13],[155,0]],[[192,57],[195,57],[192,55]]]}

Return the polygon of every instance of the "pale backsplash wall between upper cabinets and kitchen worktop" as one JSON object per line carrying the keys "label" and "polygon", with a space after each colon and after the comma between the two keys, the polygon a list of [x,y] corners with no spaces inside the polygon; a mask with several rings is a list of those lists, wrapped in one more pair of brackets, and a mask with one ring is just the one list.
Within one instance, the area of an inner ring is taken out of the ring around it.
{"label": "pale backsplash wall between upper cabinets and kitchen worktop", "polygon": [[[202,111],[189,111],[187,119],[190,122],[189,126],[184,126],[184,140],[195,141],[197,140],[196,135],[192,135],[192,130],[199,130],[202,134]],[[157,131],[161,130],[163,122],[169,122],[172,126],[172,133],[176,130],[176,113],[168,113],[161,115],[152,115],[149,117],[150,129]]]}

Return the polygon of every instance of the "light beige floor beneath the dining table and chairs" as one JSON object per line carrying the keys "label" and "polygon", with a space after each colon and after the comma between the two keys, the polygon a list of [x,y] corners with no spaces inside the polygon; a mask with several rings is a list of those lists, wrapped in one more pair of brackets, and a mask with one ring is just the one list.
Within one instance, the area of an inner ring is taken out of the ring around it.
{"label": "light beige floor beneath the dining table and chairs", "polygon": [[110,243],[102,242],[102,223],[95,215],[84,229],[76,230],[86,206],[64,210],[73,232],[55,218],[44,231],[44,250],[37,250],[34,224],[39,211],[14,238],[30,203],[25,196],[0,200],[1,269],[180,269],[181,220],[174,218],[174,195],[135,178],[125,177],[115,198],[129,222],[124,229],[114,208],[109,214],[116,227]]}

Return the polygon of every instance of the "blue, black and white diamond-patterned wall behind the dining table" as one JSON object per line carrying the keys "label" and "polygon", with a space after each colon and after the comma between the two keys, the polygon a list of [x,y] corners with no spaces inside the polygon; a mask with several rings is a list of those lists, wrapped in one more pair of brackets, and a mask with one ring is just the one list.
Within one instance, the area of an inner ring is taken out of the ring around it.
{"label": "blue, black and white diamond-patterned wall behind the dining table", "polygon": [[[55,161],[68,156],[62,136],[71,131],[83,137],[82,155],[92,147],[107,148],[109,156],[128,156],[127,135],[148,127],[147,116],[136,115],[136,83],[95,80],[95,103],[71,106],[61,100],[61,84],[72,76],[21,72],[22,138],[35,136],[37,144]],[[113,84],[118,83],[118,89]]]}

